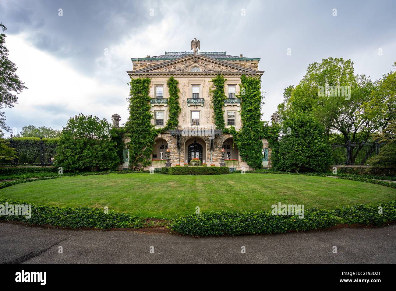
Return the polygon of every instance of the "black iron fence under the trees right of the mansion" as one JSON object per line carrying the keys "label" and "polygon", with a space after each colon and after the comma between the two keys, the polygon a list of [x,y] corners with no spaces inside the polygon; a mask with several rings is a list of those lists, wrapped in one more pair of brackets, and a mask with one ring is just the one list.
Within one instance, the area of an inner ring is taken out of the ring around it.
{"label": "black iron fence under the trees right of the mansion", "polygon": [[334,144],[331,151],[332,165],[368,165],[367,160],[379,153],[381,143]]}

